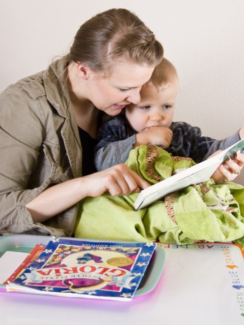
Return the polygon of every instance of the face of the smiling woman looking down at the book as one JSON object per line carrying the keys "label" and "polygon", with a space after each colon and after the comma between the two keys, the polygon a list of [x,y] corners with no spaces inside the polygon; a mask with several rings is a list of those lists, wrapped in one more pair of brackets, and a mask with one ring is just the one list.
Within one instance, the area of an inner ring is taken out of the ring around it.
{"label": "face of the smiling woman looking down at the book", "polygon": [[124,60],[115,62],[107,77],[90,71],[87,97],[96,108],[117,115],[126,105],[140,102],[141,86],[150,79],[153,70],[154,66]]}

